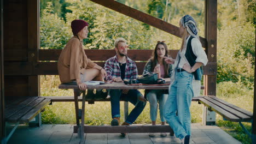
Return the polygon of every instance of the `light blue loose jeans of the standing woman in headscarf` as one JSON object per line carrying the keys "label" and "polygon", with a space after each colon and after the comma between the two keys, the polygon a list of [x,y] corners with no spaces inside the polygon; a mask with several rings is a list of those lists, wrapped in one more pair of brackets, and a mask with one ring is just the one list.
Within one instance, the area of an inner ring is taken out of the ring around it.
{"label": "light blue loose jeans of the standing woman in headscarf", "polygon": [[165,103],[165,119],[179,139],[191,135],[190,104],[193,98],[193,74],[176,72]]}

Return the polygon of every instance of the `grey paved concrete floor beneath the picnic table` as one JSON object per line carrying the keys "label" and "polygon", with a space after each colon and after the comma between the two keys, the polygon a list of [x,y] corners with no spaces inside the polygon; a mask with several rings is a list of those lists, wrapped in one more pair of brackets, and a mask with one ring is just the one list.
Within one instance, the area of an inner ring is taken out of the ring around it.
{"label": "grey paved concrete floor beneath the picnic table", "polygon": [[[241,143],[216,126],[196,123],[191,124],[191,131],[191,143]],[[8,141],[8,144],[12,143],[79,143],[79,138],[77,134],[73,133],[73,125],[69,124],[43,124],[42,127],[37,128],[20,125]],[[156,133],[155,137],[149,137],[147,133],[133,133],[126,137],[120,136],[120,134],[85,134],[84,143],[160,144],[181,143],[181,140],[170,135],[161,137],[160,133]]]}

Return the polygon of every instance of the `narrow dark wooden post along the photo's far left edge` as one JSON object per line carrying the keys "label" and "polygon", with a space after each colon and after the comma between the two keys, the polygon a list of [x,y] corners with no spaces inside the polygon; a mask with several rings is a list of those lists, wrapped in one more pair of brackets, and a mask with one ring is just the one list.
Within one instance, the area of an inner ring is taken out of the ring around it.
{"label": "narrow dark wooden post along the photo's far left edge", "polygon": [[0,9],[1,9],[1,41],[0,41],[0,143],[5,143],[5,122],[4,122],[4,70],[3,70],[3,0],[0,1]]}

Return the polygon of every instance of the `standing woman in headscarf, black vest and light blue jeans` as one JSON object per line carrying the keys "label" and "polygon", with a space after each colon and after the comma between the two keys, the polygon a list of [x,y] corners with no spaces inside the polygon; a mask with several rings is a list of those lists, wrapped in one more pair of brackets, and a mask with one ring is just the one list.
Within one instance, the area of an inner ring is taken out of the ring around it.
{"label": "standing woman in headscarf, black vest and light blue jeans", "polygon": [[196,22],[185,15],[179,22],[182,45],[176,59],[165,58],[166,63],[174,63],[174,70],[165,104],[165,118],[182,143],[190,141],[190,104],[194,96],[192,81],[202,79],[201,65],[208,62],[198,36]]}

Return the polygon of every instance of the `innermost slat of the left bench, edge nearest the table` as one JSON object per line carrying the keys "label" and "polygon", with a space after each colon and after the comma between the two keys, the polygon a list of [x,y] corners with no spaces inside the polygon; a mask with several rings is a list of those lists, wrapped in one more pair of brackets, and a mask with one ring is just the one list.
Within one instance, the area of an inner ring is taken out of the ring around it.
{"label": "innermost slat of the left bench, edge nearest the table", "polygon": [[35,117],[40,111],[44,109],[45,106],[47,106],[50,103],[50,99],[44,99],[40,104],[33,107],[31,111],[26,113],[23,117],[20,119],[20,123],[28,123],[30,120]]}

